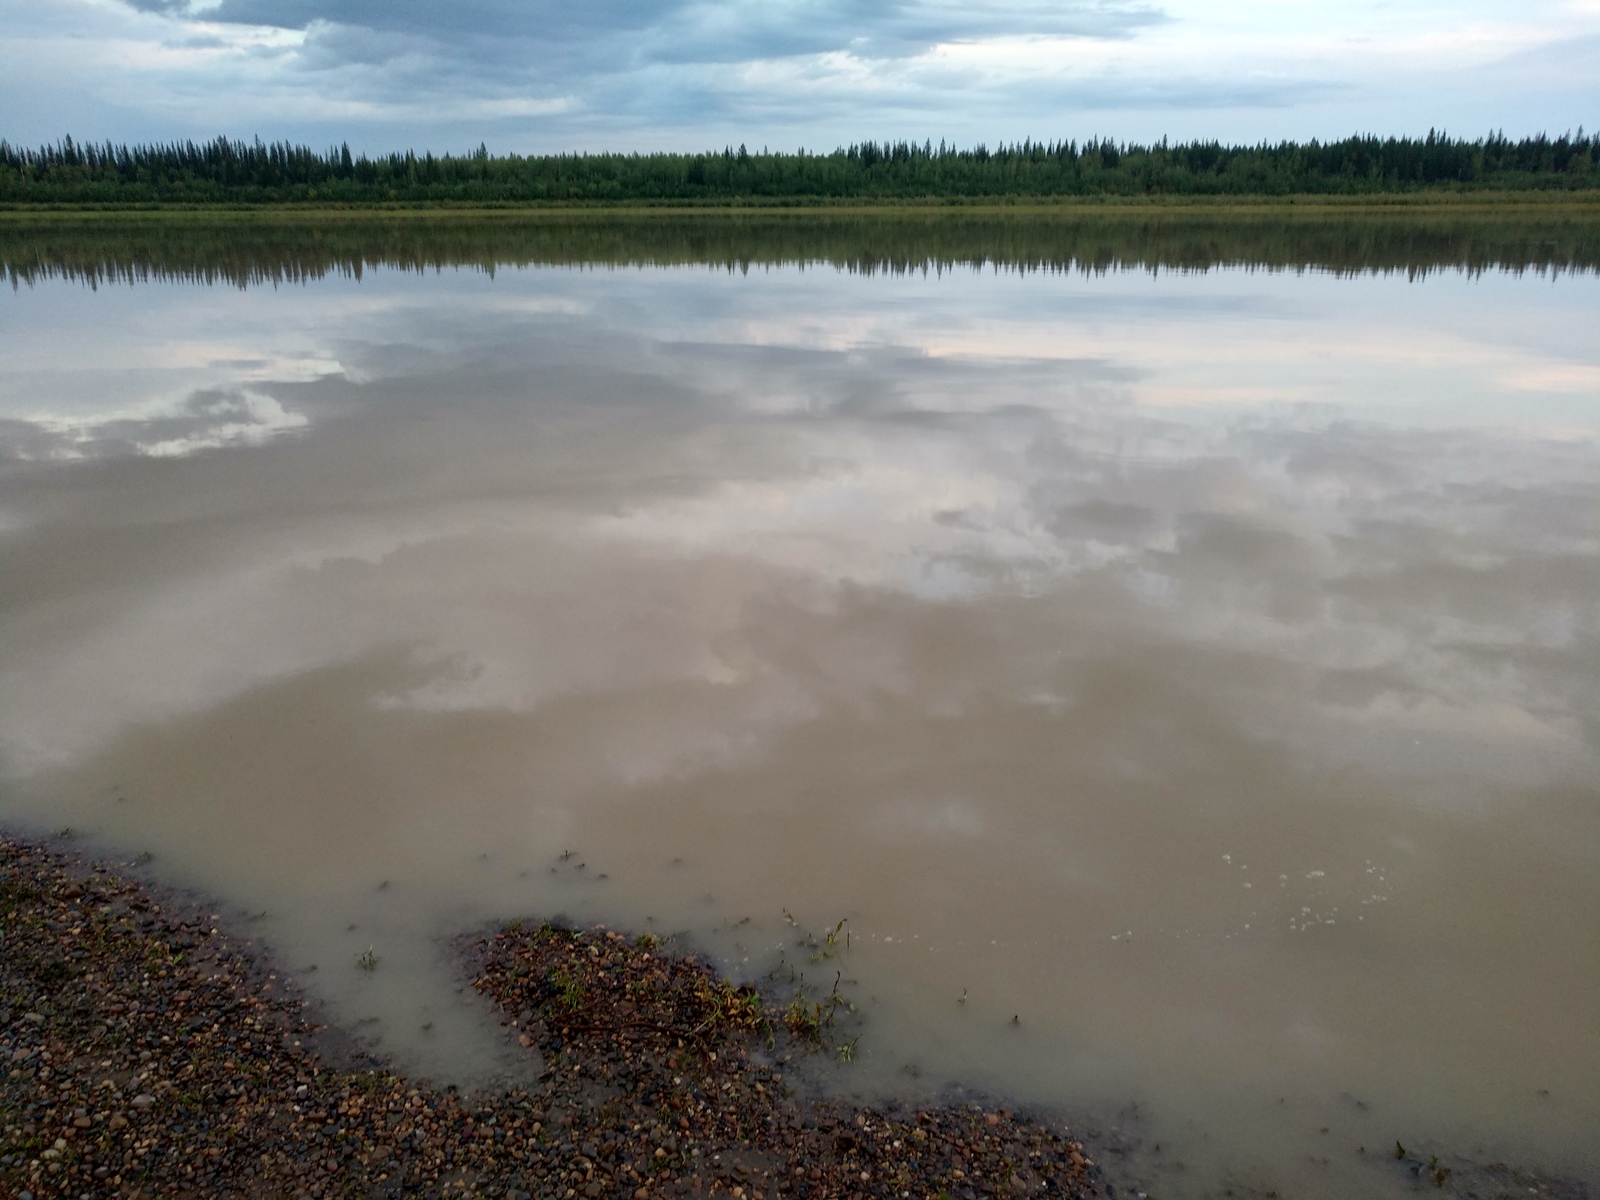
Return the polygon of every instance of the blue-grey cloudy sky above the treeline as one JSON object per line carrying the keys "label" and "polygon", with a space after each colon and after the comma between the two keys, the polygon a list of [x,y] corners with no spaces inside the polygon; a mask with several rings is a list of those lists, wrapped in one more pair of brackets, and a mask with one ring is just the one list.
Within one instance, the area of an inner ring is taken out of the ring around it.
{"label": "blue-grey cloudy sky above the treeline", "polygon": [[1600,0],[0,0],[0,136],[493,150],[1600,125]]}

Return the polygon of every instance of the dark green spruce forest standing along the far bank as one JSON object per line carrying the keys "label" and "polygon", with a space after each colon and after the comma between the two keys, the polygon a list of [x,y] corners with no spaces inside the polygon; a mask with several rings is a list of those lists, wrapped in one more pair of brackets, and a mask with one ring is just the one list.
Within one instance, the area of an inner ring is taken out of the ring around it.
{"label": "dark green spruce forest standing along the far bank", "polygon": [[352,155],[290,142],[0,141],[0,205],[838,205],[1600,189],[1600,136],[1168,146],[861,142],[832,154]]}

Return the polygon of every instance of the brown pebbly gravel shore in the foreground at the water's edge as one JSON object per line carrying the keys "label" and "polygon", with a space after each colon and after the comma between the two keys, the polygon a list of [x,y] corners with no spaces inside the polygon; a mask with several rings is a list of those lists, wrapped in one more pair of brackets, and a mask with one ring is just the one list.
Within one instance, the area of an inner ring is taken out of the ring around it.
{"label": "brown pebbly gravel shore in the foreground at the water's edge", "polygon": [[214,914],[107,864],[0,837],[0,917],[8,1195],[1101,1195],[1050,1118],[805,1098],[795,1056],[848,1053],[829,1002],[768,1013],[648,938],[475,939],[538,1074],[469,1096],[366,1059]]}

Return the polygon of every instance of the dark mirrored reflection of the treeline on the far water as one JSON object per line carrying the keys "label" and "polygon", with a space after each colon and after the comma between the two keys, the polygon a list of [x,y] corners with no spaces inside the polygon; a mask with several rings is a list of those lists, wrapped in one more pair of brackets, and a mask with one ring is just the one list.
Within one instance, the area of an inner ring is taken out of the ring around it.
{"label": "dark mirrored reflection of the treeline on the far water", "polygon": [[[1600,203],[877,211],[13,213],[0,278],[235,286],[374,269],[1600,270]],[[834,941],[840,939],[835,931]],[[822,946],[819,949],[829,949]]]}

